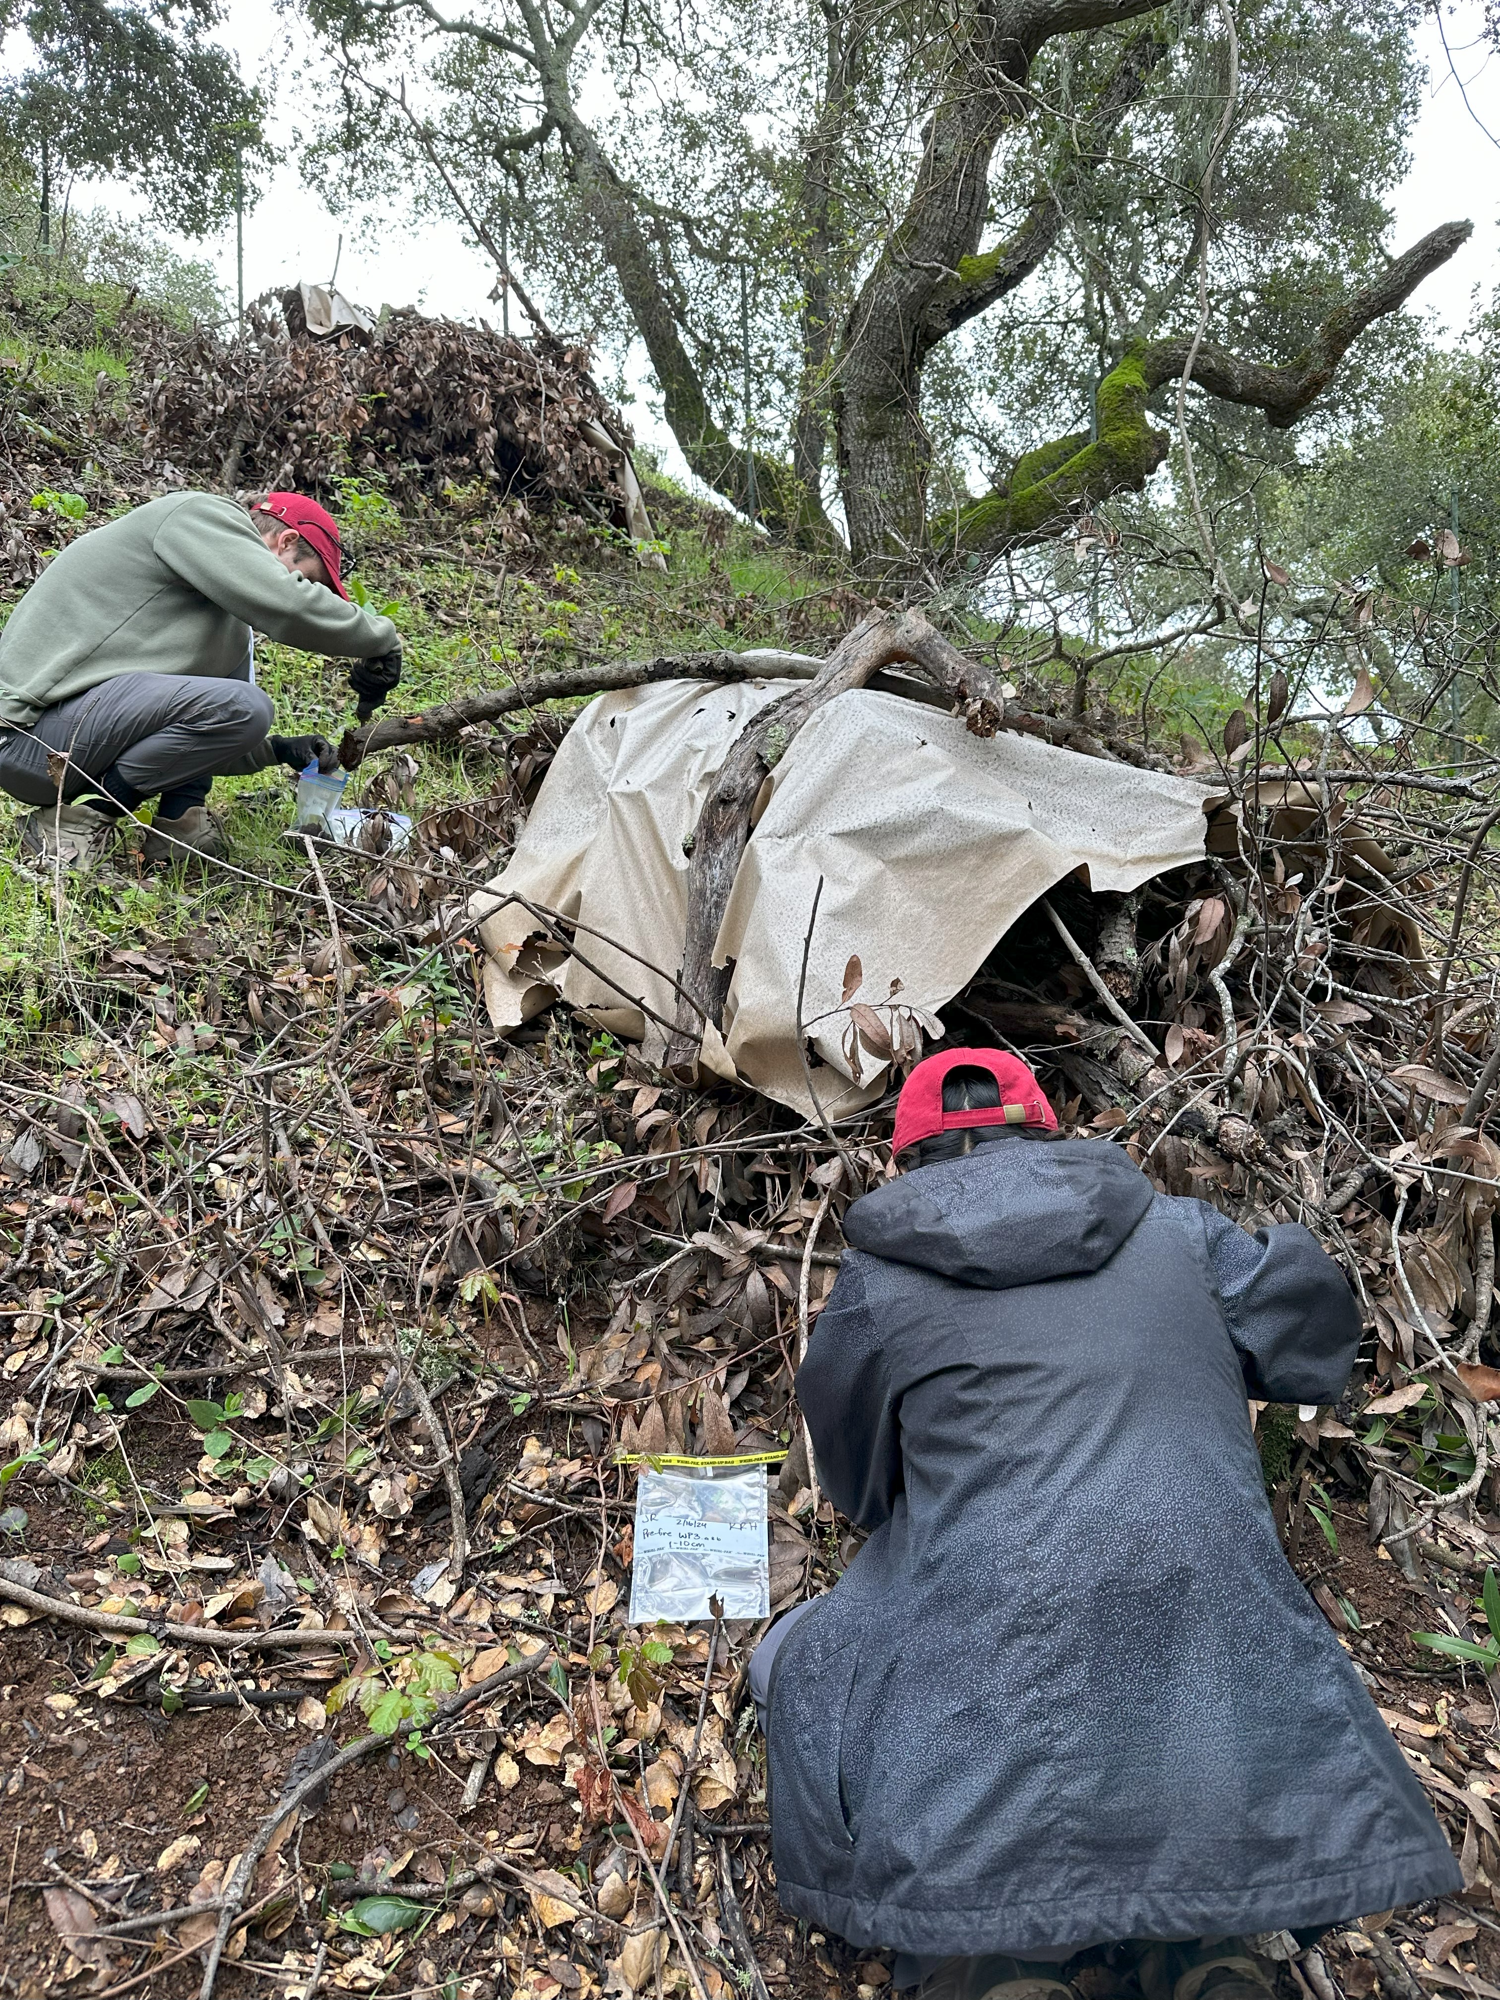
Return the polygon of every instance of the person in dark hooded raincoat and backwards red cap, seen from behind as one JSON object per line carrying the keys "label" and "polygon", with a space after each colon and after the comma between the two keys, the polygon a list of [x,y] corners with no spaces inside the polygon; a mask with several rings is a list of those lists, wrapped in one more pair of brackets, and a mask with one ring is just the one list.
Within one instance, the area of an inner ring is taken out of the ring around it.
{"label": "person in dark hooded raincoat and backwards red cap, seen from behind", "polygon": [[870,1530],[752,1660],[782,1904],[932,2000],[1264,2000],[1240,1942],[1456,1894],[1462,1872],[1292,1574],[1246,1394],[1336,1402],[1350,1290],[1290,1224],[1050,1140],[996,1050],[918,1064],[798,1374]]}

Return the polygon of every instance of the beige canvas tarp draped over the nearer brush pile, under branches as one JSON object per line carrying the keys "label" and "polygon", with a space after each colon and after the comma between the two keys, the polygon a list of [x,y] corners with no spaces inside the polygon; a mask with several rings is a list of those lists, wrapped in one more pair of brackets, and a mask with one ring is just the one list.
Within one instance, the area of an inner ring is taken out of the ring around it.
{"label": "beige canvas tarp draped over the nearer brush pile, under branches", "polygon": [[[484,918],[486,1000],[496,1028],[556,994],[660,1056],[682,964],[688,856],[704,794],[730,744],[792,682],[664,682],[600,696],[552,760],[516,852],[474,902]],[[724,1040],[704,1064],[804,1116],[796,992],[824,880],[802,1020],[824,1110],[876,1098],[884,1064],[846,1056],[848,1006],[890,1032],[930,1016],[974,976],[1016,918],[1074,870],[1092,890],[1132,890],[1202,860],[1208,786],[1054,750],[1030,736],[970,736],[958,716],[854,690],[796,734],[758,802],[716,962],[734,960]],[[1222,794],[1220,794],[1222,796]],[[578,930],[596,972],[540,940],[508,896]],[[616,946],[636,952],[646,964]],[[844,1002],[844,968],[862,966]],[[654,970],[652,970],[654,968]],[[608,982],[614,982],[608,984]],[[912,1012],[904,1012],[912,1010]]]}

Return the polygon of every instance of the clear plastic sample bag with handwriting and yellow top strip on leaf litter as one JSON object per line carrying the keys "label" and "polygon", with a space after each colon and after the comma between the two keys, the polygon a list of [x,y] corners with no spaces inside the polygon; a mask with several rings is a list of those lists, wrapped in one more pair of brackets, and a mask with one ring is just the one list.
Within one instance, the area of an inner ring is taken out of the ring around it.
{"label": "clear plastic sample bag with handwriting and yellow top strip on leaf litter", "polygon": [[630,1624],[770,1616],[766,1468],[678,1460],[640,1468]]}

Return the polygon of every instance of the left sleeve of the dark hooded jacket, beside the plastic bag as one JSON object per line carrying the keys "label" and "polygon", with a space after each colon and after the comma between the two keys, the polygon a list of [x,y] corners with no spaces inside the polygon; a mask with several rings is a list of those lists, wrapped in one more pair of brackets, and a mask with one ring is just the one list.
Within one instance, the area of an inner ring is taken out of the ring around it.
{"label": "left sleeve of the dark hooded jacket, beside the plastic bag", "polygon": [[890,1370],[864,1298],[862,1254],[846,1250],[796,1372],[818,1484],[860,1528],[890,1520],[902,1488],[900,1424]]}

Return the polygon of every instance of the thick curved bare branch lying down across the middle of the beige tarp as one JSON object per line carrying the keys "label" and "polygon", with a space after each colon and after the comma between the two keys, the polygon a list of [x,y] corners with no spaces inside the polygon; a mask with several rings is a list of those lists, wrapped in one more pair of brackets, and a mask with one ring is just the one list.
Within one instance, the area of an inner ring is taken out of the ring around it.
{"label": "thick curved bare branch lying down across the middle of the beige tarp", "polygon": [[714,944],[750,840],[750,814],[766,772],[786,756],[796,732],[826,702],[848,688],[866,686],[878,668],[896,662],[918,666],[940,686],[964,712],[976,736],[994,736],[1002,728],[1006,702],[990,670],[966,660],[920,612],[868,612],[830,652],[806,688],[784,694],[746,724],[718,768],[694,830],[688,926],[678,978],[690,998],[678,1000],[666,1048],[666,1068],[672,1074],[684,1080],[696,1078],[704,1014],[716,1028],[724,1024],[732,968],[714,966]]}

